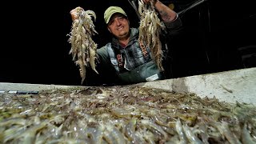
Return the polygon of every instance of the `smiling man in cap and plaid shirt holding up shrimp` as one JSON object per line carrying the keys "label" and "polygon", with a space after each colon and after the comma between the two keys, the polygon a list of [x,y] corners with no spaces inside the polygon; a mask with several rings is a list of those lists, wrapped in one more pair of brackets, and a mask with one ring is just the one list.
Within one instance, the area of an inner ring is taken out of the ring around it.
{"label": "smiling man in cap and plaid shirt holding up shrimp", "polygon": [[[150,0],[143,0],[150,2]],[[156,0],[154,7],[158,10],[162,22],[165,23],[169,34],[180,30],[182,22],[174,10]],[[76,10],[70,11],[74,20],[77,18]],[[150,48],[143,48],[138,42],[138,29],[130,28],[127,14],[121,7],[110,6],[104,13],[107,29],[113,34],[112,42],[97,50],[99,67],[114,67],[118,84],[126,85],[138,82],[154,81],[165,78],[156,63],[150,57]],[[149,54],[143,55],[146,50]],[[100,68],[99,68],[100,69]],[[104,73],[104,72],[102,72]]]}

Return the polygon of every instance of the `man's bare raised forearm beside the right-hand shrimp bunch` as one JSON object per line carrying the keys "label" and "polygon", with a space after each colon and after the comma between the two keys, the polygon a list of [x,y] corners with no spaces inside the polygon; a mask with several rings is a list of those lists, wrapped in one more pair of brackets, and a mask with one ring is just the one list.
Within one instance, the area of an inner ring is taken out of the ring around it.
{"label": "man's bare raised forearm beside the right-hand shrimp bunch", "polygon": [[172,22],[177,18],[177,14],[174,10],[170,10],[168,6],[158,0],[156,0],[154,7],[158,10],[163,22]]}

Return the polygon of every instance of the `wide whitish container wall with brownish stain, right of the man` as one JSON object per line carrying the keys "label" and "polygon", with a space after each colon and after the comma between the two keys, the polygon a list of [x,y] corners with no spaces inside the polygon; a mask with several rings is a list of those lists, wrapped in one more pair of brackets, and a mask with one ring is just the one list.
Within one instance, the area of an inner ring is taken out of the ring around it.
{"label": "wide whitish container wall with brownish stain, right of the man", "polygon": [[256,68],[230,70],[185,78],[145,82],[150,86],[178,93],[194,93],[201,98],[218,98],[220,101],[256,104]]}

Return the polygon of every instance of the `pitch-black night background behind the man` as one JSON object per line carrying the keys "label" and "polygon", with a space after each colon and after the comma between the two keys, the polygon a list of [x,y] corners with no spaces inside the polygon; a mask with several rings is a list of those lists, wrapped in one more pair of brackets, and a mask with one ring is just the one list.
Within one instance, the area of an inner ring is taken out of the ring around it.
{"label": "pitch-black night background behind the man", "polygon": [[[176,12],[196,2],[160,1],[166,6],[174,3]],[[110,41],[103,21],[108,6],[122,6],[131,26],[138,26],[128,0],[37,1],[20,5],[16,2],[2,12],[0,82],[80,85],[78,66],[72,61],[67,42],[72,25],[70,10],[76,6],[94,10],[97,15],[94,25],[98,34],[94,42],[98,47]],[[208,0],[179,16],[184,29],[168,46],[172,78],[255,66],[256,9],[252,1]],[[86,78],[86,86],[100,82],[90,71]]]}

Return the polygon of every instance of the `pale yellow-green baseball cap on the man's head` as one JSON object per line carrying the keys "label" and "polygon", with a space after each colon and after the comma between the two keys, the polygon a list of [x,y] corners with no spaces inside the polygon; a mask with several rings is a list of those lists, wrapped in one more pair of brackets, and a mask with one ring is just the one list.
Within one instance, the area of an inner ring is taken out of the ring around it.
{"label": "pale yellow-green baseball cap on the man's head", "polygon": [[110,22],[110,18],[113,14],[115,13],[120,13],[120,14],[124,14],[127,17],[127,14],[124,10],[122,10],[121,7],[118,6],[110,6],[109,8],[106,9],[106,11],[104,12],[104,20],[106,22],[106,24],[108,22]]}

